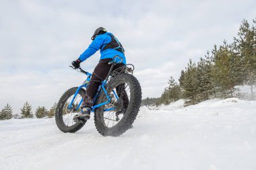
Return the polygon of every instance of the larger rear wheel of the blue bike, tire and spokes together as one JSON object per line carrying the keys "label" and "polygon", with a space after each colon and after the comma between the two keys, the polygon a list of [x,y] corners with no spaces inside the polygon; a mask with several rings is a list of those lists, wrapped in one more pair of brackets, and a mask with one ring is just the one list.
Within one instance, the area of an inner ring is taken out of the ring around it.
{"label": "larger rear wheel of the blue bike, tire and spokes together", "polygon": [[[94,123],[103,136],[119,136],[131,128],[139,112],[141,86],[133,75],[123,73],[110,80],[106,88],[111,102],[96,109]],[[102,92],[97,104],[106,100]]]}

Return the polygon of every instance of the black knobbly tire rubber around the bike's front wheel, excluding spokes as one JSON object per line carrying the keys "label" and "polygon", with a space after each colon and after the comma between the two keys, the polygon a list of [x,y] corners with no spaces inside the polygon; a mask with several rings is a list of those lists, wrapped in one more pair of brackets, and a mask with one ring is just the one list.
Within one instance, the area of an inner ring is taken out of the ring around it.
{"label": "black knobbly tire rubber around the bike's front wheel, excluding spokes", "polygon": [[[70,89],[68,89],[59,99],[59,102],[57,104],[57,108],[55,111],[55,122],[59,128],[59,130],[61,130],[62,132],[69,132],[69,133],[74,133],[77,132],[77,130],[80,130],[84,124],[86,124],[86,122],[84,123],[75,123],[72,126],[66,126],[65,123],[63,122],[63,107],[65,105],[65,102],[67,101],[67,99],[69,97],[71,97],[71,95],[75,94],[75,91],[77,91],[78,87],[72,87]],[[86,94],[86,90],[84,89],[80,89],[79,90],[79,95],[81,95],[84,98],[84,95]]]}

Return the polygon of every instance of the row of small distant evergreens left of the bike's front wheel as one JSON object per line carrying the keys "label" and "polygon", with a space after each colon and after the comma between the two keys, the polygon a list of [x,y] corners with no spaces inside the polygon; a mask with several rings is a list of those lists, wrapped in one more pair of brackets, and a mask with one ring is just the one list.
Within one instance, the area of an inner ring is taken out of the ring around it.
{"label": "row of small distant evergreens left of the bike's front wheel", "polygon": [[[23,108],[21,109],[21,112],[20,112],[21,116],[18,116],[18,114],[15,114],[14,118],[16,117],[34,118],[34,116],[36,118],[53,118],[53,116],[55,116],[56,108],[57,108],[57,103],[54,103],[54,105],[51,107],[50,110],[46,110],[44,106],[42,107],[38,106],[35,114],[33,114],[32,106],[28,103],[28,101],[26,101],[26,103],[24,103]],[[0,111],[0,120],[8,120],[11,118],[13,118],[12,108],[11,108],[11,105],[7,103],[7,105],[5,105],[5,107]]]}

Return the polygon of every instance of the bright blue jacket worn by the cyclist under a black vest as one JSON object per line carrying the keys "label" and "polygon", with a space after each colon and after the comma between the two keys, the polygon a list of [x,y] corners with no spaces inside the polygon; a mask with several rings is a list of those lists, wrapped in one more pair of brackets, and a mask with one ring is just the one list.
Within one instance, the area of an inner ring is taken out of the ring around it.
{"label": "bright blue jacket worn by the cyclist under a black vest", "polygon": [[108,48],[102,51],[104,49],[104,46],[106,46],[106,44],[108,44],[112,40],[110,34],[110,32],[106,32],[105,34],[100,34],[96,36],[92,44],[90,44],[90,46],[79,56],[79,60],[86,60],[100,49],[100,59],[113,58],[114,56],[119,55],[121,56],[121,58],[123,58],[123,64],[126,65],[125,54],[123,54],[123,52],[119,52],[118,50],[115,50],[113,48]]}

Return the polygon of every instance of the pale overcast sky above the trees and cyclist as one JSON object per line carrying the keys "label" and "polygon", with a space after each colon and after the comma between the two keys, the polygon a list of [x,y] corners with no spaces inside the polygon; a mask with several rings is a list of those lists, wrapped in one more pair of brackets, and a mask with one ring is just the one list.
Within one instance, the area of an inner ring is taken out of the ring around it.
{"label": "pale overcast sky above the trees and cyclist", "polygon": [[[192,58],[232,42],[256,1],[0,0],[0,109],[14,114],[26,101],[50,108],[86,77],[70,69],[102,26],[119,38],[143,98],[159,97],[170,76],[178,81]],[[99,52],[82,63],[92,72]]]}

